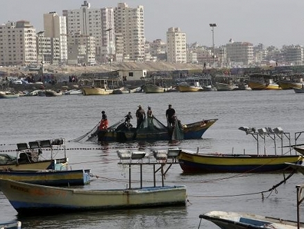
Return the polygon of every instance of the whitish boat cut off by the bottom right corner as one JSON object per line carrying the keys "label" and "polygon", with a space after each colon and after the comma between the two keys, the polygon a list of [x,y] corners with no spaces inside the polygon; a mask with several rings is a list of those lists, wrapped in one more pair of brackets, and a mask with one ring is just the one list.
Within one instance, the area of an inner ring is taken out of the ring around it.
{"label": "whitish boat cut off by the bottom right corner", "polygon": [[297,221],[239,212],[212,211],[205,214],[200,214],[199,218],[211,221],[221,229],[304,228],[304,223],[298,223]]}

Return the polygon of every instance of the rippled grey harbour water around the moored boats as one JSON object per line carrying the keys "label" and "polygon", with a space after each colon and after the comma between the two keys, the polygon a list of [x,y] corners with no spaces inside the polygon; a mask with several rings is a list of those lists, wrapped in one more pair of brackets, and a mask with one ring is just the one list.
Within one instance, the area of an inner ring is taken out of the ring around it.
{"label": "rippled grey harbour water around the moored boats", "polygon": [[[292,143],[294,133],[304,129],[303,95],[295,94],[293,90],[20,97],[0,100],[0,150],[16,149],[19,142],[64,137],[67,139],[71,169],[92,169],[92,173],[99,177],[84,189],[124,188],[128,183],[127,169],[117,164],[117,149],[138,149],[142,146],[147,150],[165,149],[169,146],[168,142],[110,143],[101,146],[94,142],[69,140],[90,132],[99,122],[101,110],[105,110],[110,124],[114,124],[128,111],[134,117],[138,105],[145,110],[151,105],[155,117],[165,123],[164,114],[169,103],[183,124],[200,119],[219,119],[202,139],[176,144],[193,151],[199,147],[203,153],[243,153],[244,150],[256,153],[255,139],[238,130],[240,126],[280,126],[285,132],[291,133]],[[133,125],[136,125],[135,119]],[[259,150],[264,151],[264,146]],[[271,144],[267,145],[268,152],[273,150]],[[287,150],[284,148],[284,153]],[[138,173],[135,171],[133,176],[136,180]],[[151,170],[144,168],[146,182],[152,178]],[[304,183],[301,174],[295,174],[276,192],[265,194],[262,200],[260,192],[267,191],[282,179],[282,174],[213,173],[186,176],[176,164],[169,170],[165,183],[187,186],[188,202],[185,207],[19,217],[0,192],[0,221],[18,219],[23,223],[22,228],[197,228],[199,214],[212,210],[252,212],[296,220],[296,185]],[[301,221],[304,221],[303,212],[302,205]],[[217,226],[203,220],[201,228]]]}

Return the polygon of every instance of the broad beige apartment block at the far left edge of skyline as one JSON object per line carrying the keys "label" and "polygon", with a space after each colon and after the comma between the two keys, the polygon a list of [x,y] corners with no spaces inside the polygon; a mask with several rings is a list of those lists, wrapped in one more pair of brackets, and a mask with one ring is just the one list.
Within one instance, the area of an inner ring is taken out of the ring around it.
{"label": "broad beige apartment block at the far left edge of skyline", "polygon": [[0,65],[37,64],[35,28],[27,21],[0,26]]}

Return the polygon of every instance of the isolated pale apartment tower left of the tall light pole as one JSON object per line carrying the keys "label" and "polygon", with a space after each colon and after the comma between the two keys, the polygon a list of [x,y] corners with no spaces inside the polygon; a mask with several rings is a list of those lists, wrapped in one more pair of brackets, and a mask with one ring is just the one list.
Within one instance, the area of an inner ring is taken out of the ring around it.
{"label": "isolated pale apartment tower left of the tall light pole", "polygon": [[187,63],[186,34],[180,28],[168,28],[167,31],[167,61]]}

